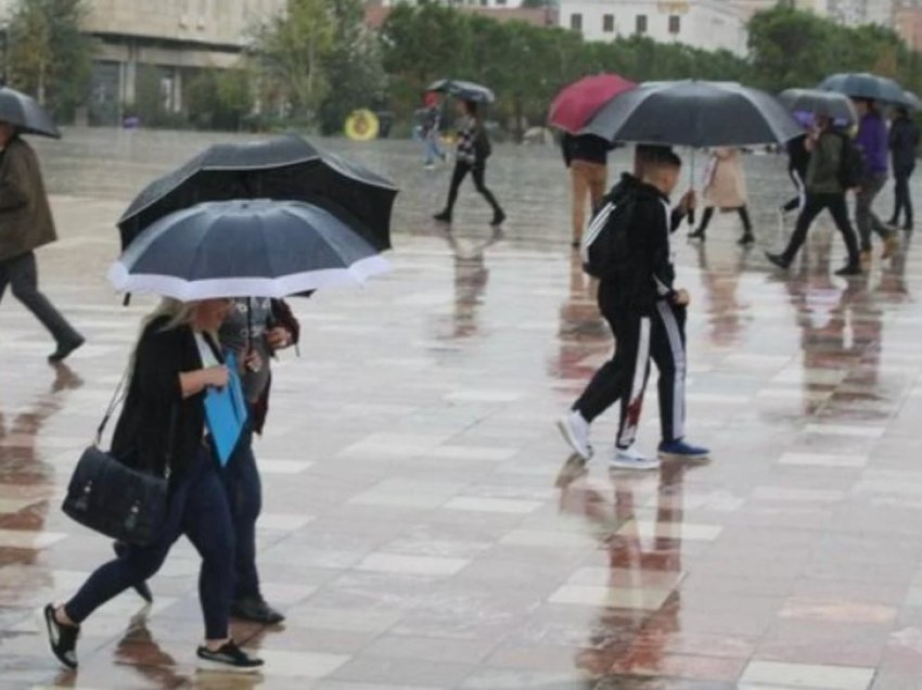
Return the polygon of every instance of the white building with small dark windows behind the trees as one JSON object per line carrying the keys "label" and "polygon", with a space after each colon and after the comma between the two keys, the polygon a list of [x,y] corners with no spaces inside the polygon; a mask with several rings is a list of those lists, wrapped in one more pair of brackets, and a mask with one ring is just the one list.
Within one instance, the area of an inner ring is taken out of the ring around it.
{"label": "white building with small dark windows behind the trees", "polygon": [[641,35],[704,50],[746,52],[742,13],[725,0],[561,0],[560,25],[587,40]]}

